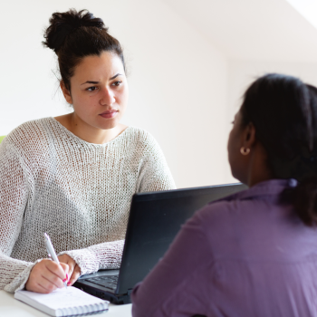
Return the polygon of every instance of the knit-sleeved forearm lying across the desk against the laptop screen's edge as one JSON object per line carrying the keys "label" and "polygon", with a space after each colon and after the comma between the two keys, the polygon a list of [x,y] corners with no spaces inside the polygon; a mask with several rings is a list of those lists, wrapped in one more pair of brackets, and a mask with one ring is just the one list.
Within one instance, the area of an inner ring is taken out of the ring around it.
{"label": "knit-sleeved forearm lying across the desk against the laptop screen's edge", "polygon": [[85,249],[64,251],[81,268],[81,274],[91,274],[101,269],[118,269],[121,264],[124,240],[91,245]]}

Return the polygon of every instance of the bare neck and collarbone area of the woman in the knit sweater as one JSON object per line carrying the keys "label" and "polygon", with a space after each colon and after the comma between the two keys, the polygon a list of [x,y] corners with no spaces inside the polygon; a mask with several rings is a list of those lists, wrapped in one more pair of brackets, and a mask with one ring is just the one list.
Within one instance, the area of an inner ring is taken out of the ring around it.
{"label": "bare neck and collarbone area of the woman in the knit sweater", "polygon": [[78,138],[94,144],[107,143],[111,139],[118,137],[120,133],[127,129],[127,126],[118,124],[114,128],[102,130],[81,120],[75,112],[55,117],[54,119],[60,122],[64,128],[71,131]]}

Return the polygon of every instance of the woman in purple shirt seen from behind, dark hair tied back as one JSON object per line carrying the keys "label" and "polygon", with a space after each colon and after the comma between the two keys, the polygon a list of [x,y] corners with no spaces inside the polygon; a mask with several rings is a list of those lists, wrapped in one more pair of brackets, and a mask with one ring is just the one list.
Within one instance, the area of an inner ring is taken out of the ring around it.
{"label": "woman in purple shirt seen from behind, dark hair tied back", "polygon": [[187,221],[133,290],[133,317],[317,315],[317,89],[257,79],[227,149],[249,189]]}

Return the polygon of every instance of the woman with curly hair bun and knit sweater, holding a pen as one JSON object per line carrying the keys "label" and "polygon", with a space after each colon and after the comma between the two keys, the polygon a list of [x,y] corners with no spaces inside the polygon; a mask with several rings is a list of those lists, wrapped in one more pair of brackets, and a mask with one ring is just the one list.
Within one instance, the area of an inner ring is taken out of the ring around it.
{"label": "woman with curly hair bun and knit sweater, holding a pen", "polygon": [[[175,188],[158,143],[120,123],[128,82],[120,43],[86,10],[54,13],[44,46],[58,56],[73,111],[26,122],[0,145],[0,289],[50,293],[118,268],[134,193]],[[51,236],[61,265],[46,259]]]}

